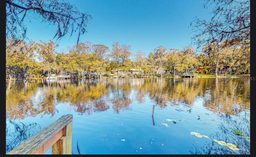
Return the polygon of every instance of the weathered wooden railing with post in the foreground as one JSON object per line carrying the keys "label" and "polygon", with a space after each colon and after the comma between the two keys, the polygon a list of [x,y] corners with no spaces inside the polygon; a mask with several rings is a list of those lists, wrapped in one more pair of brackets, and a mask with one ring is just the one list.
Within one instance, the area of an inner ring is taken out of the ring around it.
{"label": "weathered wooden railing with post in the foreground", "polygon": [[60,117],[7,154],[44,154],[50,147],[52,154],[71,154],[72,120],[72,114]]}

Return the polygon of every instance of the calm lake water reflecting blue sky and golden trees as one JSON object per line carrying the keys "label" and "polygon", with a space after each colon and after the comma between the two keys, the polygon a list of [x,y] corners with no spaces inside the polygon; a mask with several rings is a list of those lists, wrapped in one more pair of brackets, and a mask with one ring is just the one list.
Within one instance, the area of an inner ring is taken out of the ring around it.
{"label": "calm lake water reflecting blue sky and golden trees", "polygon": [[26,90],[13,83],[6,153],[72,114],[72,154],[250,154],[247,78],[38,80]]}

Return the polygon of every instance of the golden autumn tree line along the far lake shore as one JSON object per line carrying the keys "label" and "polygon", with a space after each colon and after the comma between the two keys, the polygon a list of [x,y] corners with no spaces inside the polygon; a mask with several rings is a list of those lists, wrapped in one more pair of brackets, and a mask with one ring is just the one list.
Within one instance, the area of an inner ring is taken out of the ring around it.
{"label": "golden autumn tree line along the far lake shore", "polygon": [[189,73],[203,67],[221,69],[224,65],[232,67],[234,75],[250,73],[250,46],[246,43],[228,46],[206,45],[202,53],[196,54],[190,46],[183,49],[167,49],[160,45],[148,56],[142,51],[132,53],[131,45],[113,42],[112,49],[106,45],[92,44],[90,41],[67,47],[68,53],[56,52],[52,40],[26,42],[8,39],[6,41],[6,76],[26,80],[31,77],[65,75],[66,71],[82,76],[85,73],[110,73],[112,70],[131,68],[142,69],[145,73],[175,72]]}

